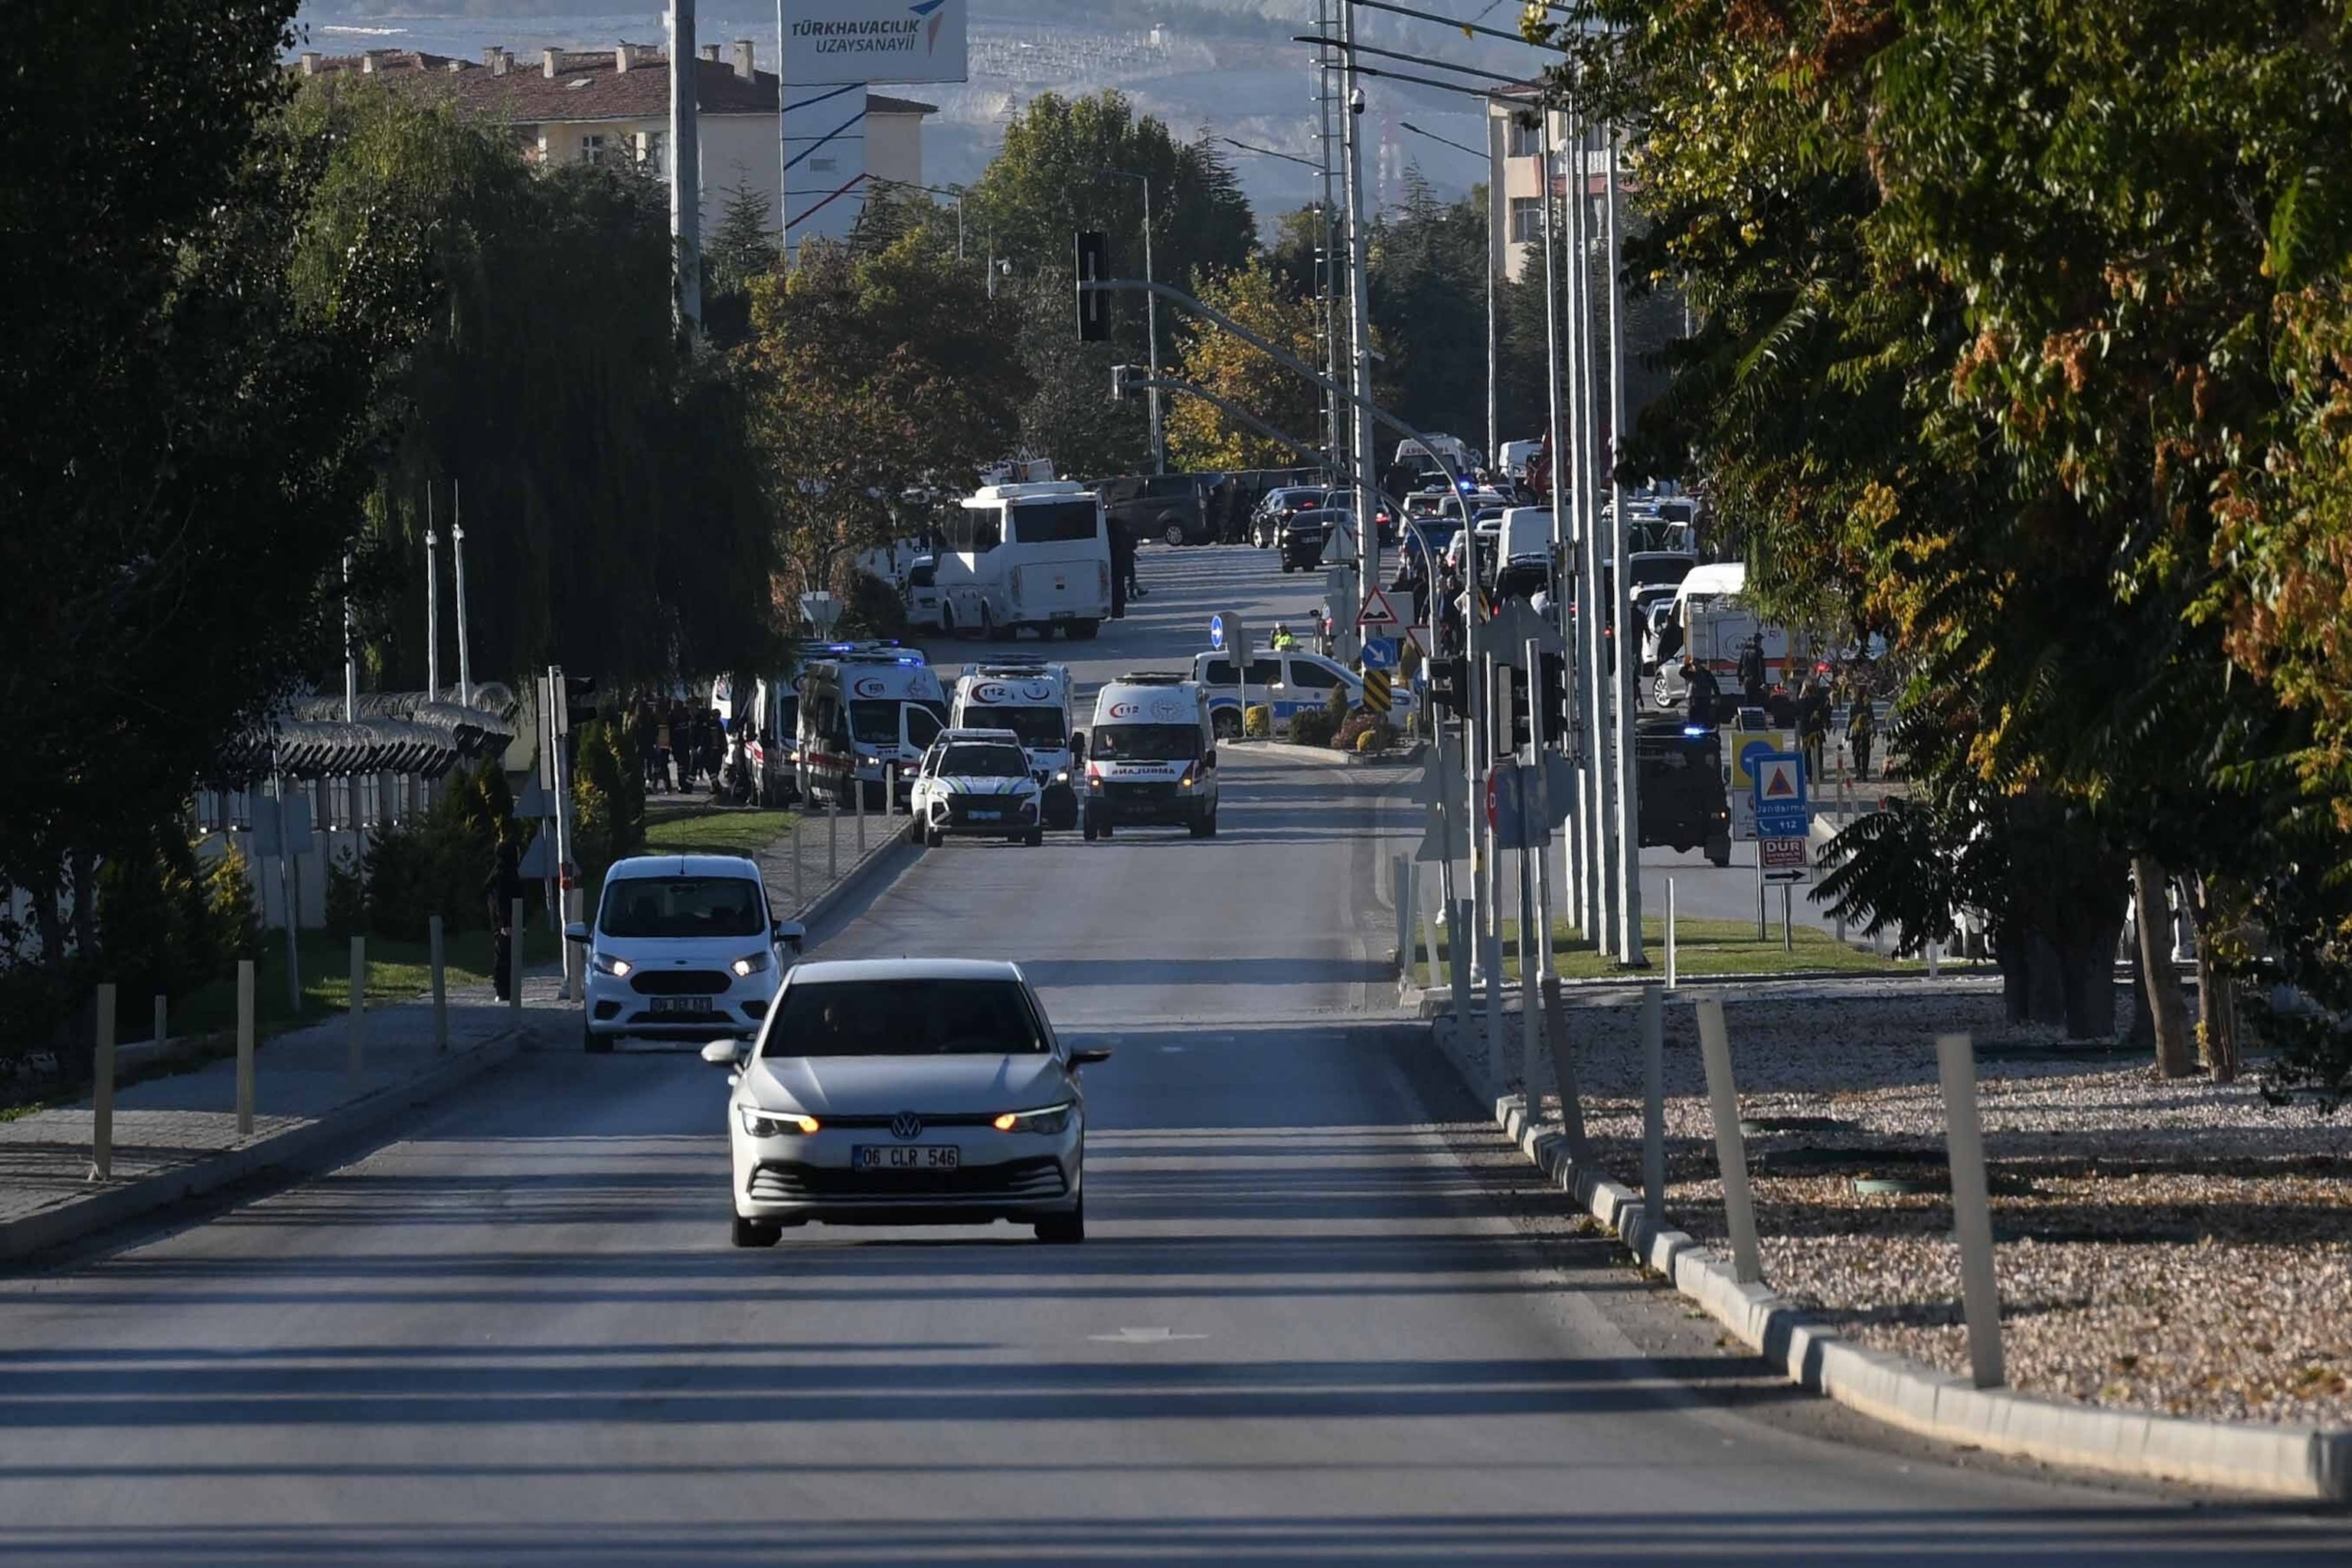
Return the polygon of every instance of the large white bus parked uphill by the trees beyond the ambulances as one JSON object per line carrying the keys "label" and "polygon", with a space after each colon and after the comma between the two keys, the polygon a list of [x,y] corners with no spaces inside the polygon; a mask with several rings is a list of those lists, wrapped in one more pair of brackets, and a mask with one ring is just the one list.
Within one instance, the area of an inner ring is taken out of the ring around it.
{"label": "large white bus parked uphill by the trees beyond the ambulances", "polygon": [[957,508],[936,557],[938,625],[1002,642],[1021,628],[1094,637],[1110,616],[1103,498],[1082,484],[990,484]]}

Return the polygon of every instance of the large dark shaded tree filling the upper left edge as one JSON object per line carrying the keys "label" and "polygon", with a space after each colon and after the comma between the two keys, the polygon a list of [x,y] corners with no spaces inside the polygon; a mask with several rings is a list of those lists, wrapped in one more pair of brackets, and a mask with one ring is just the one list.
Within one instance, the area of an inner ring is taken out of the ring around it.
{"label": "large dark shaded tree filling the upper left edge", "polygon": [[[280,134],[294,0],[40,0],[0,118],[0,882],[85,954],[139,853],[320,646],[369,482],[374,367],[414,254],[292,252],[315,150]],[[106,47],[92,47],[106,40]],[[332,308],[315,301],[327,299]]]}

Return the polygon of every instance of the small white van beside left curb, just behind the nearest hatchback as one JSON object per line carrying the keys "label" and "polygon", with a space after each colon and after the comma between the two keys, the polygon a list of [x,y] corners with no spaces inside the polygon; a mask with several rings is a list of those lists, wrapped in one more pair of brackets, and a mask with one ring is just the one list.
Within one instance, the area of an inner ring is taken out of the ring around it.
{"label": "small white van beside left curb, just behind the nearest hatchback", "polygon": [[753,860],[633,856],[604,872],[595,919],[564,936],[588,947],[586,1046],[612,1051],[623,1037],[755,1034],[804,931],[769,912]]}

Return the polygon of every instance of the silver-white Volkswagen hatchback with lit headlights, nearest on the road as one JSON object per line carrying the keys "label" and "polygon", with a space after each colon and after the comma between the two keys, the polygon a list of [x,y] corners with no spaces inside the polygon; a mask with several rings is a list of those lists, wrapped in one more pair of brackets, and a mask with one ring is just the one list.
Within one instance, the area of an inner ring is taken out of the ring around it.
{"label": "silver-white Volkswagen hatchback with lit headlights, nearest on the road", "polygon": [[793,969],[736,1067],[734,1244],[786,1225],[1033,1225],[1087,1239],[1087,1100],[1014,964],[866,959]]}

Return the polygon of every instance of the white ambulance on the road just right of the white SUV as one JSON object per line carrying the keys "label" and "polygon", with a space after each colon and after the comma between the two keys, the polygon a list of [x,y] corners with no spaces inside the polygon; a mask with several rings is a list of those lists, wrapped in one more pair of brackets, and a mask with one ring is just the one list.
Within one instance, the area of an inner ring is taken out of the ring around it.
{"label": "white ambulance on the road just right of the white SUV", "polygon": [[1108,839],[1122,823],[1216,837],[1216,736],[1190,675],[1122,675],[1094,696],[1084,837]]}

